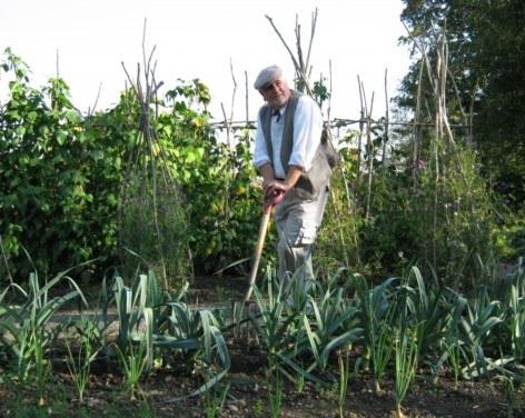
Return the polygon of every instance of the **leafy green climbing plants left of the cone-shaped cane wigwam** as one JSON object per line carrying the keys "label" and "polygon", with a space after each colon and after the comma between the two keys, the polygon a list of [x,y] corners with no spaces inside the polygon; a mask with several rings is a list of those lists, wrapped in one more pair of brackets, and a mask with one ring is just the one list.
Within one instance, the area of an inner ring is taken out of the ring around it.
{"label": "leafy green climbing plants left of the cone-shaped cane wigwam", "polygon": [[108,120],[82,117],[61,78],[32,88],[29,68],[9,49],[1,71],[13,78],[0,108],[0,230],[10,272],[21,279],[33,270],[23,248],[50,276],[101,253],[111,259],[128,130],[95,129]]}

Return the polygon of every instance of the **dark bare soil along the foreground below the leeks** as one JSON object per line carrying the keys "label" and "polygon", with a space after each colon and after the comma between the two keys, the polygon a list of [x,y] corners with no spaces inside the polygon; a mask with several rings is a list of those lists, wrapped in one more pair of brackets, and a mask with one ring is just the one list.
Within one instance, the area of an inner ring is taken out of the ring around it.
{"label": "dark bare soil along the foreground below the leeks", "polygon": [[[247,345],[236,345],[230,346],[230,356],[232,366],[226,379],[230,388],[218,416],[269,417],[264,354]],[[196,376],[180,370],[150,374],[140,382],[137,399],[130,400],[118,365],[98,365],[81,405],[69,374],[61,370],[52,376],[42,407],[37,406],[33,389],[10,380],[9,374],[1,371],[1,417],[206,417],[204,398],[170,401],[197,386]],[[350,378],[344,416],[390,417],[395,408],[392,379],[385,379],[383,386],[383,391],[376,394],[372,377],[360,374]],[[306,384],[299,392],[294,385],[285,384],[281,417],[338,417],[337,396],[337,388]],[[404,412],[407,417],[525,417],[525,394],[511,390],[497,378],[459,381],[457,387],[447,377],[436,385],[417,378],[404,401]]]}

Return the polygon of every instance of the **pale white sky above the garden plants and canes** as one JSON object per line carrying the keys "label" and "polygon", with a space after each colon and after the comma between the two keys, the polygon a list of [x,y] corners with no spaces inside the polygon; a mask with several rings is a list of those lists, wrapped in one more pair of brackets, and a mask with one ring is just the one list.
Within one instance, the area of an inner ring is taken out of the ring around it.
{"label": "pale white sky above the garden plants and canes", "polygon": [[[331,117],[357,118],[359,76],[374,117],[385,112],[385,69],[392,97],[409,66],[400,0],[0,0],[0,52],[10,47],[31,68],[31,82],[41,87],[57,74],[71,89],[72,102],[87,112],[101,84],[97,110],[115,106],[126,73],[155,46],[156,78],[170,89],[178,79],[199,78],[210,88],[210,111],[222,120],[221,106],[234,120],[245,120],[245,71],[249,118],[261,98],[252,89],[264,67],[279,64],[289,80],[291,59],[265,18],[268,14],[295,51],[296,17],[303,47],[308,47],[311,16],[318,10],[310,63],[313,79],[329,76]],[[58,66],[57,66],[58,62]],[[237,91],[232,100],[234,81]],[[0,101],[7,99],[6,77]],[[232,107],[234,101],[234,107]]]}

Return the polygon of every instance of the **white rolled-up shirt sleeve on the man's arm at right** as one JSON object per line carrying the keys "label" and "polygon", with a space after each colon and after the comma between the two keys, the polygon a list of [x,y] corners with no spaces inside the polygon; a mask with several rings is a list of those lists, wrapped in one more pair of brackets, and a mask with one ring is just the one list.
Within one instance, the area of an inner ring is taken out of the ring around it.
{"label": "white rolled-up shirt sleeve on the man's arm at right", "polygon": [[308,171],[319,147],[321,132],[323,115],[319,107],[310,97],[301,96],[294,116],[294,148],[288,163]]}

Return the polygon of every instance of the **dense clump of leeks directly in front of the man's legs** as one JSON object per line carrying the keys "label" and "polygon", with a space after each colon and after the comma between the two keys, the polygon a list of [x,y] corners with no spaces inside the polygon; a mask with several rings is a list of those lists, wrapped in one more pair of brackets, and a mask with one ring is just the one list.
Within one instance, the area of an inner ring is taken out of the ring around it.
{"label": "dense clump of leeks directly in front of the man's legs", "polygon": [[325,384],[315,370],[326,376],[330,356],[361,338],[357,309],[347,302],[346,289],[337,286],[337,279],[338,273],[325,283],[316,282],[308,295],[297,288],[297,275],[285,286],[269,270],[267,298],[262,298],[259,288],[254,289],[260,314],[251,319],[268,352],[268,370],[280,372],[299,390],[305,379]]}

